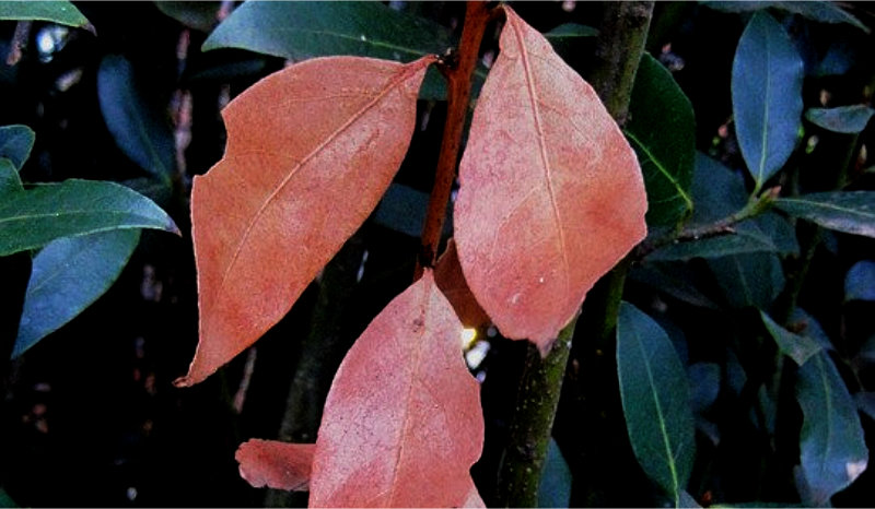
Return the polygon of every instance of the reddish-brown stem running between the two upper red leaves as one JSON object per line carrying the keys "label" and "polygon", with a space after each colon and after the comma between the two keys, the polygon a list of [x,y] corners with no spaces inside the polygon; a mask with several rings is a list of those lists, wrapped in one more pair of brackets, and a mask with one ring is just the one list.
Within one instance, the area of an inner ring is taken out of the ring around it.
{"label": "reddish-brown stem running between the two upper red leaves", "polygon": [[477,67],[483,32],[492,19],[492,14],[493,10],[488,8],[486,2],[468,2],[457,52],[457,63],[450,61],[443,63],[442,71],[447,80],[446,123],[444,123],[441,154],[434,175],[434,187],[429,198],[425,224],[422,227],[422,244],[415,273],[417,280],[422,275],[423,268],[434,265],[434,260],[438,258],[446,203],[456,178],[456,164],[462,150],[462,133],[465,129],[465,118],[468,114],[471,95],[471,76]]}

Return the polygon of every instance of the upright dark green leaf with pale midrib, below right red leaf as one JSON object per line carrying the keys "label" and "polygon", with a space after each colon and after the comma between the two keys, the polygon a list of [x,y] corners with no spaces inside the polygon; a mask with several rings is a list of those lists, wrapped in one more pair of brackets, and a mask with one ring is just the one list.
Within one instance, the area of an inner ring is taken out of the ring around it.
{"label": "upright dark green leaf with pale midrib, below right red leaf", "polygon": [[635,458],[678,506],[696,449],[687,374],[665,331],[628,303],[617,322],[617,369]]}

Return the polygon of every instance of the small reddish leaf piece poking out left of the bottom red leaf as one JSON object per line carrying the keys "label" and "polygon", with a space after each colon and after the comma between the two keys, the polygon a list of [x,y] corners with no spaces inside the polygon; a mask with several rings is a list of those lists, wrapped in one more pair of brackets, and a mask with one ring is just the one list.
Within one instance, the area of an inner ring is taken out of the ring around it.
{"label": "small reddish leaf piece poking out left of the bottom red leaf", "polygon": [[315,450],[314,443],[253,439],[241,443],[234,459],[241,477],[256,488],[306,492]]}

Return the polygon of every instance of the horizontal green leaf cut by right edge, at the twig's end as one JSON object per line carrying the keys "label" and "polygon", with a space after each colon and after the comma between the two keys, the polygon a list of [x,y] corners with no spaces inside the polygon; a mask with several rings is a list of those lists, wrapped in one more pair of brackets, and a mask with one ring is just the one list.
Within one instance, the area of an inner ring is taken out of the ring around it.
{"label": "horizontal green leaf cut by right edge, at the twig's end", "polygon": [[781,198],[775,206],[825,228],[875,237],[875,191],[816,192]]}

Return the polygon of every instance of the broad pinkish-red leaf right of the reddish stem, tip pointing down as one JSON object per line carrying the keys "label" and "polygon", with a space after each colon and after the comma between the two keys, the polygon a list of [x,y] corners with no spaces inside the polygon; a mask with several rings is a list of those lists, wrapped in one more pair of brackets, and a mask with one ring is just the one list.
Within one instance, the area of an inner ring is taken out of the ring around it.
{"label": "broad pinkish-red leaf right of the reddish stem, tip pointing down", "polygon": [[593,88],[504,5],[459,167],[455,239],[503,335],[546,353],[586,292],[646,234],[634,152]]}

